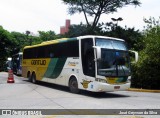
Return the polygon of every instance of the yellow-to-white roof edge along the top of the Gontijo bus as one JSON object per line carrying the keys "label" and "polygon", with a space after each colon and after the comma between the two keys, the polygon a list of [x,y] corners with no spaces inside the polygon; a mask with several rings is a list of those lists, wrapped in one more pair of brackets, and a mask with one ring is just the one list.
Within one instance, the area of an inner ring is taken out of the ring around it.
{"label": "yellow-to-white roof edge along the top of the Gontijo bus", "polygon": [[32,48],[32,47],[39,47],[39,46],[44,46],[44,45],[50,45],[50,44],[64,43],[64,42],[69,42],[69,41],[79,40],[79,39],[83,40],[84,38],[108,38],[108,39],[113,39],[113,40],[124,41],[123,39],[107,37],[107,36],[85,35],[85,36],[79,36],[75,38],[61,38],[61,39],[55,39],[55,40],[50,40],[50,41],[44,41],[37,45],[25,46],[24,49]]}

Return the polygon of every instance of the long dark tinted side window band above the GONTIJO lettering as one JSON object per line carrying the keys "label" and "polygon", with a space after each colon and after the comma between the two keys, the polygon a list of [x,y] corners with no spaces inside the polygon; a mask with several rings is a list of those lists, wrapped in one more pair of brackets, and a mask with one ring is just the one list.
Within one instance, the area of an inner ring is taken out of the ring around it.
{"label": "long dark tinted side window band above the GONTIJO lettering", "polygon": [[23,55],[24,59],[61,57],[79,57],[78,40],[28,48],[24,50]]}

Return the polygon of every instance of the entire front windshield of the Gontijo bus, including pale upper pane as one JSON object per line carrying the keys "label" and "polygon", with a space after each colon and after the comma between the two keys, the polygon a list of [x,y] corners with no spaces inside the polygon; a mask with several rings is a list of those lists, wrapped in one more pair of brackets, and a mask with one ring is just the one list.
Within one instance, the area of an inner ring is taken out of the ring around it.
{"label": "entire front windshield of the Gontijo bus, including pale upper pane", "polygon": [[97,62],[98,75],[122,77],[130,75],[129,55],[125,42],[113,39],[96,39],[101,48],[101,59]]}

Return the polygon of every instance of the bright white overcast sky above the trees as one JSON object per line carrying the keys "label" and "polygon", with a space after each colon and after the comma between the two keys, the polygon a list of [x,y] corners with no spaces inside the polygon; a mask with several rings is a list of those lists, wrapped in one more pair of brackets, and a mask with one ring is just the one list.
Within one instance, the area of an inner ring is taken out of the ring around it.
{"label": "bright white overcast sky above the trees", "polygon": [[[143,18],[160,16],[160,0],[140,0],[140,7],[127,6],[118,9],[113,14],[104,14],[100,22],[110,22],[111,18],[122,17],[118,22],[122,27],[135,27],[143,30]],[[33,34],[38,31],[55,31],[60,33],[60,27],[65,20],[70,19],[71,24],[86,23],[83,14],[69,15],[68,6],[61,0],[0,0],[0,26],[12,32],[25,33],[27,30]],[[89,18],[92,21],[92,17]]]}

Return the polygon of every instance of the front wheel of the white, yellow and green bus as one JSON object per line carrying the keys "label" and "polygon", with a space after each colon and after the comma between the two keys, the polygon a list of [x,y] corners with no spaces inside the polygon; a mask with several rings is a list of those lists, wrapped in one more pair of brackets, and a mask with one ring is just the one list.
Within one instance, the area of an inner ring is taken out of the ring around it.
{"label": "front wheel of the white, yellow and green bus", "polygon": [[79,93],[78,82],[75,77],[72,77],[69,81],[69,89],[72,93]]}

